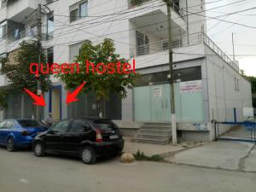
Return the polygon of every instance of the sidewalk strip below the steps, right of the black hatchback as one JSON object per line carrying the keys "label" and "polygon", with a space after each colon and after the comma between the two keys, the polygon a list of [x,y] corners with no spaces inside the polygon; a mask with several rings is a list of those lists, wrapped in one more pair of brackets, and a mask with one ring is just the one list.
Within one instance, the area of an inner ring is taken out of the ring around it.
{"label": "sidewalk strip below the steps, right of the black hatchback", "polygon": [[183,151],[187,148],[194,148],[201,146],[203,143],[178,143],[176,146],[173,146],[172,143],[167,145],[157,145],[149,143],[131,143],[131,137],[124,137],[125,139],[125,148],[124,152],[130,152],[131,154],[136,154],[139,150],[143,154],[152,156],[154,154],[159,154],[162,157],[166,157],[177,152]]}

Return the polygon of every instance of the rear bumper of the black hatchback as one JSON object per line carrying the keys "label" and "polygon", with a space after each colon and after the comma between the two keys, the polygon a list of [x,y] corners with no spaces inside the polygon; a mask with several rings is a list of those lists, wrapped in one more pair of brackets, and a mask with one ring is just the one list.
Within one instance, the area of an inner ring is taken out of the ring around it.
{"label": "rear bumper of the black hatchback", "polygon": [[123,151],[125,141],[120,139],[114,142],[103,142],[103,143],[94,143],[94,149],[97,156],[111,156],[114,154],[119,154]]}

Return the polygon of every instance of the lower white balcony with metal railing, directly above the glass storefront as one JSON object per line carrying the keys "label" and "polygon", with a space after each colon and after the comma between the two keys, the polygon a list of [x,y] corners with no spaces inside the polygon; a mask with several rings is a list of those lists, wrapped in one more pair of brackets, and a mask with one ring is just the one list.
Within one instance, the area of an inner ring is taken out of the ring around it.
{"label": "lower white balcony with metal railing, directly above the glass storefront", "polygon": [[[151,39],[148,38],[147,41],[144,41],[144,44],[131,47],[131,58],[136,58],[137,68],[168,63],[168,39],[163,39],[150,44],[146,43],[150,41]],[[222,49],[219,49],[218,45],[214,44],[214,42],[203,32],[196,32],[189,36],[183,35],[173,37],[173,61],[186,61],[205,56],[205,48],[203,45],[207,45],[207,47],[212,49],[212,51],[222,58],[227,65],[235,69],[237,73],[241,73],[241,69],[236,63],[232,61]],[[152,60],[152,58],[154,58],[154,60]]]}

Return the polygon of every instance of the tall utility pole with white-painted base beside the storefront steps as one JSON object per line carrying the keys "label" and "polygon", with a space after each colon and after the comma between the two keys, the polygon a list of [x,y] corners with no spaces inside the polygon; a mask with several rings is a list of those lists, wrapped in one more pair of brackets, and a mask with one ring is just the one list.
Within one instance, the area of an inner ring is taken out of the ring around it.
{"label": "tall utility pole with white-painted base beside the storefront steps", "polygon": [[171,91],[171,120],[172,120],[172,144],[177,144],[177,128],[175,117],[175,98],[174,98],[174,77],[173,77],[173,62],[172,62],[172,15],[171,15],[171,1],[165,0],[167,6],[168,17],[168,33],[169,33],[169,70],[170,70],[170,91]]}

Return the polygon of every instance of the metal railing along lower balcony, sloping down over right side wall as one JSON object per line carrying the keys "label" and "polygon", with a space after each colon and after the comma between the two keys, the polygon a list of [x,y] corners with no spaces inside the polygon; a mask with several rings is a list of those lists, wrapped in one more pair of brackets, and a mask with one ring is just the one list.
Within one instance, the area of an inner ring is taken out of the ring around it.
{"label": "metal railing along lower balcony, sloping down over right side wall", "polygon": [[[206,44],[210,49],[212,49],[212,51],[216,53],[216,55],[220,56],[226,63],[228,63],[230,67],[234,68],[238,73],[242,73],[241,69],[236,65],[236,63],[232,61],[230,57],[226,55],[224,51],[218,47],[217,44],[214,44],[214,42],[210,38],[208,38],[208,36],[204,32],[196,32],[193,34],[189,34],[189,36],[184,35],[172,38],[172,49],[177,49],[195,44]],[[164,39],[158,42],[154,42],[152,44],[143,44],[131,48],[131,55],[150,55],[166,51],[168,49],[168,39]]]}

